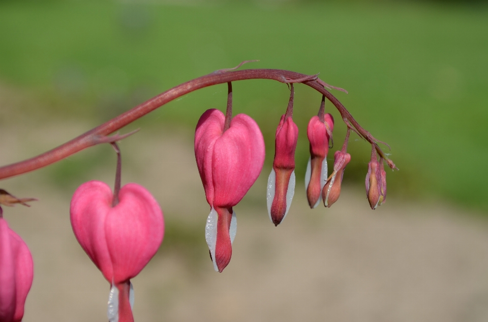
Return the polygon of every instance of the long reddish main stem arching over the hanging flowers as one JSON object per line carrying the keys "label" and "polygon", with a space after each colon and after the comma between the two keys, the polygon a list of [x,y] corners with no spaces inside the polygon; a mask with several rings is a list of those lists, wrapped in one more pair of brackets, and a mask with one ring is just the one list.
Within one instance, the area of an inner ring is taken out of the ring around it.
{"label": "long reddish main stem arching over the hanging flowers", "polygon": [[[143,102],[142,104],[137,105],[135,108],[113,118],[112,120],[100,126],[97,126],[96,128],[89,130],[84,134],[81,134],[80,136],[66,142],[65,144],[55,149],[45,152],[37,157],[1,167],[0,179],[42,168],[46,165],[62,160],[85,148],[94,146],[99,143],[97,138],[99,138],[100,136],[106,136],[120,128],[123,128],[124,126],[139,119],[147,113],[159,108],[161,105],[164,105],[175,98],[178,98],[182,95],[188,94],[200,88],[216,84],[250,79],[270,79],[282,83],[290,83],[290,80],[300,80],[307,78],[310,78],[310,76],[282,69],[243,69],[208,74],[173,87],[159,94],[158,96],[155,96]],[[374,142],[378,141],[371,135],[370,132],[363,129],[356,122],[356,120],[354,120],[352,115],[346,110],[346,108],[341,104],[341,102],[339,102],[337,98],[335,98],[329,91],[327,91],[323,87],[322,84],[324,84],[324,82],[322,80],[318,78],[314,80],[314,78],[312,78],[311,80],[304,80],[302,81],[302,83],[312,87],[313,89],[325,95],[325,97],[327,97],[327,99],[330,100],[332,104],[334,104],[335,107],[339,110],[339,113],[341,114],[343,120],[349,121],[357,129],[361,136],[364,137],[364,139],[369,141],[371,144],[374,144]],[[375,144],[375,147],[378,153],[381,156],[384,156],[378,145]],[[390,165],[390,163],[388,164]],[[393,163],[391,162],[391,164]]]}

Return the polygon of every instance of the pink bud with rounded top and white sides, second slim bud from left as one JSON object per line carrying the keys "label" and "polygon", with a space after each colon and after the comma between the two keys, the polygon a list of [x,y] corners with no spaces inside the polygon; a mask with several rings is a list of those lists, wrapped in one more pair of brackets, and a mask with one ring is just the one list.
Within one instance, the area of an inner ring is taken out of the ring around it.
{"label": "pink bud with rounded top and white sides, second slim bud from left", "polygon": [[327,152],[333,127],[334,119],[328,113],[324,116],[324,122],[320,121],[318,116],[312,117],[307,127],[310,159],[305,174],[305,187],[311,208],[319,204],[322,189],[327,181]]}

